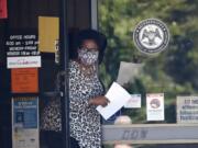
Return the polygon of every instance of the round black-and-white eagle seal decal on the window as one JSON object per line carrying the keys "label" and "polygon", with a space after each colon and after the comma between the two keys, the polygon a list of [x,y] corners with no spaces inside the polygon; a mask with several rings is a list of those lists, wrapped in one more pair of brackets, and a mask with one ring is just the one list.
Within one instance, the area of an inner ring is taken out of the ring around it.
{"label": "round black-and-white eagle seal decal on the window", "polygon": [[160,20],[143,20],[134,30],[133,41],[140,52],[150,55],[157,54],[168,45],[169,31]]}

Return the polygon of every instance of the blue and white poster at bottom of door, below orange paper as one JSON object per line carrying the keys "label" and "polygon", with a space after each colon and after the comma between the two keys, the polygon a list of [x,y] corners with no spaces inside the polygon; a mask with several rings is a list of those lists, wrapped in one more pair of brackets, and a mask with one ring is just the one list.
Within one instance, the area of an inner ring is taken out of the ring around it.
{"label": "blue and white poster at bottom of door, below orange paper", "polygon": [[12,99],[12,147],[40,148],[38,99]]}

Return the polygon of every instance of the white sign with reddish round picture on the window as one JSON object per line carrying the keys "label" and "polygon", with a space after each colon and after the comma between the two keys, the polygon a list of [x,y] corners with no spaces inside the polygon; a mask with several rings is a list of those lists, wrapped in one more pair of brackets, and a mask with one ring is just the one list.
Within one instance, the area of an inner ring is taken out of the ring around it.
{"label": "white sign with reddish round picture on the window", "polygon": [[164,93],[146,94],[147,121],[164,121]]}

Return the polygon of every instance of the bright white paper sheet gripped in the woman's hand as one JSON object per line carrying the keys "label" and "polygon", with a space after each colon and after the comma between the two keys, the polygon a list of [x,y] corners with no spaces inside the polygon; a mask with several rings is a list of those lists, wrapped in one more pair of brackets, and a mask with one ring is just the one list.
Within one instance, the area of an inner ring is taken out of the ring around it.
{"label": "bright white paper sheet gripped in the woman's hand", "polygon": [[97,111],[102,115],[105,119],[108,119],[129,101],[131,94],[128,93],[128,91],[120,84],[113,82],[109,91],[107,92],[106,98],[109,99],[110,103],[105,107],[99,105],[97,107]]}

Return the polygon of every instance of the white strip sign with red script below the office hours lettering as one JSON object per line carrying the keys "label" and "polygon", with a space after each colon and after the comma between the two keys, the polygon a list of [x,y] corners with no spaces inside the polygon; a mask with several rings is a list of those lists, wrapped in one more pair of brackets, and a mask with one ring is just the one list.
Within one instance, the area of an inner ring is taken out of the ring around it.
{"label": "white strip sign with red script below the office hours lettering", "polygon": [[8,68],[33,68],[41,67],[41,56],[8,57]]}

